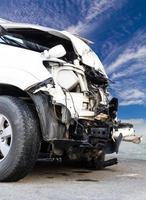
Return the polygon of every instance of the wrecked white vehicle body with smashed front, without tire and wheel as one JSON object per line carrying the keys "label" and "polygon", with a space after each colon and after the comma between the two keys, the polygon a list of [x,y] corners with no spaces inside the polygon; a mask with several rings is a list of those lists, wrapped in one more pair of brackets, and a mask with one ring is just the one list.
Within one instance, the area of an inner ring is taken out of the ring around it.
{"label": "wrecked white vehicle body with smashed front, without tire and wheel", "polygon": [[0,24],[0,84],[28,94],[48,153],[98,161],[98,168],[117,164],[104,162],[105,154],[118,153],[122,139],[137,140],[133,127],[117,120],[118,99],[109,100],[108,76],[88,42],[66,31]]}

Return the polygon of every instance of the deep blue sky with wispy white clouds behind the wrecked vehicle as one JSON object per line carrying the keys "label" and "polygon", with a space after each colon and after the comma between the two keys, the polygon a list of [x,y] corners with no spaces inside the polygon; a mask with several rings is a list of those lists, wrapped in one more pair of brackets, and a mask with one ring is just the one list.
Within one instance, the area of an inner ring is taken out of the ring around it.
{"label": "deep blue sky with wispy white clouds behind the wrecked vehicle", "polygon": [[1,0],[0,18],[86,36],[114,82],[119,118],[146,121],[145,0]]}

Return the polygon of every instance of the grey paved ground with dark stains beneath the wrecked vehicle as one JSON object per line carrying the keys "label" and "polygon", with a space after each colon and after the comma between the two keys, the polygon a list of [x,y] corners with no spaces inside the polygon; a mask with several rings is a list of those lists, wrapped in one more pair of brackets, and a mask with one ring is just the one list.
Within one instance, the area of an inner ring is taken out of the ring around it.
{"label": "grey paved ground with dark stains beneath the wrecked vehicle", "polygon": [[0,200],[146,199],[146,161],[120,159],[117,166],[89,171],[38,162],[17,183],[0,183]]}

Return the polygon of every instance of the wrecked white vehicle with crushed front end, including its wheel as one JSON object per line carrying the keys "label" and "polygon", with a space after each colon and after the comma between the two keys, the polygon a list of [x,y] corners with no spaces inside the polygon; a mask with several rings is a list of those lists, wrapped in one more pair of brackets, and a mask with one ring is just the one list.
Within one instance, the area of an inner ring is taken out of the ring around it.
{"label": "wrecked white vehicle with crushed front end, including its wheel", "polygon": [[[39,153],[101,169],[117,163],[118,100],[86,39],[0,22],[0,181],[17,181]],[[131,133],[130,133],[131,134]]]}

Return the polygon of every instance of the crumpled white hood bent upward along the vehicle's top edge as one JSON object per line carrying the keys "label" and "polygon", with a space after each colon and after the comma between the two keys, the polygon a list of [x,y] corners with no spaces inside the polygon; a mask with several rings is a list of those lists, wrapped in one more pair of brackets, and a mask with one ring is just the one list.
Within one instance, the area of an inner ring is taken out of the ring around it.
{"label": "crumpled white hood bent upward along the vehicle's top edge", "polygon": [[67,31],[58,31],[58,30],[51,29],[48,27],[32,25],[32,24],[21,24],[21,23],[14,23],[14,22],[8,23],[6,21],[3,21],[2,26],[7,30],[30,29],[30,28],[41,30],[44,32],[48,32],[52,35],[55,35],[57,37],[70,40],[72,42],[72,45],[74,47],[76,54],[81,57],[82,62],[90,67],[94,67],[97,71],[100,71],[102,74],[105,75],[106,78],[108,78],[105,72],[104,66],[101,63],[98,56],[95,54],[95,52],[81,38],[76,37]]}

